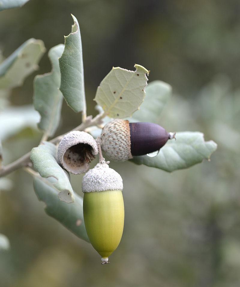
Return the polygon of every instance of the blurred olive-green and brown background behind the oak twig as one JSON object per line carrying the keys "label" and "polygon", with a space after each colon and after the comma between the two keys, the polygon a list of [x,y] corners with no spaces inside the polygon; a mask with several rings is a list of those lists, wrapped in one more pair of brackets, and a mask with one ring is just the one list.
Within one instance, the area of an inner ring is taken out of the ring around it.
{"label": "blurred olive-green and brown background behind the oak twig", "polygon": [[[32,37],[47,49],[63,43],[70,13],[81,29],[88,115],[96,114],[96,88],[110,69],[138,63],[151,70],[149,82],[173,86],[159,123],[169,131],[199,130],[218,150],[211,162],[172,174],[111,163],[124,180],[125,229],[110,265],[46,215],[29,174],[9,175],[0,192],[0,232],[11,248],[0,251],[0,286],[239,286],[239,1],[31,0],[0,13],[3,56]],[[11,91],[11,106],[32,104],[34,76],[50,69],[46,53],[39,71]],[[79,121],[64,103],[57,133]],[[32,127],[6,134],[4,163],[40,138]],[[71,178],[79,195],[81,179]]]}

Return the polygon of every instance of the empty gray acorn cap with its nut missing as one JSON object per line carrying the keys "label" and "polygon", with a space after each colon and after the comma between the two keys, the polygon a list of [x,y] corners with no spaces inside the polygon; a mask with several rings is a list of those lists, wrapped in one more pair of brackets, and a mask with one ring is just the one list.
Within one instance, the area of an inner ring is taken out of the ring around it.
{"label": "empty gray acorn cap with its nut missing", "polygon": [[83,131],[67,133],[58,145],[58,161],[73,174],[85,173],[89,163],[98,154],[95,139]]}

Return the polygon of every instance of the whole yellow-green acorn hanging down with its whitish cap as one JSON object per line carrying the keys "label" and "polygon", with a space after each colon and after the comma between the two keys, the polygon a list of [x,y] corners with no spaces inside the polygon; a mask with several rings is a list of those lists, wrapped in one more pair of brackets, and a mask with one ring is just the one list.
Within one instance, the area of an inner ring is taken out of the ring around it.
{"label": "whole yellow-green acorn hanging down with its whitish cap", "polygon": [[102,264],[118,247],[124,226],[122,177],[105,161],[83,177],[83,217],[91,245],[102,256]]}

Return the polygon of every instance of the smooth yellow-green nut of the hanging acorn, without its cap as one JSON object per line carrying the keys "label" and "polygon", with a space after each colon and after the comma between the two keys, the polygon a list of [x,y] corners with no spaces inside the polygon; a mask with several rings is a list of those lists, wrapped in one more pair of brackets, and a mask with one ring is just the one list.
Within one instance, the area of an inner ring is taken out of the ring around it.
{"label": "smooth yellow-green nut of the hanging acorn, without its cap", "polygon": [[102,256],[108,258],[118,247],[124,226],[124,202],[121,190],[86,192],[83,216],[88,238]]}

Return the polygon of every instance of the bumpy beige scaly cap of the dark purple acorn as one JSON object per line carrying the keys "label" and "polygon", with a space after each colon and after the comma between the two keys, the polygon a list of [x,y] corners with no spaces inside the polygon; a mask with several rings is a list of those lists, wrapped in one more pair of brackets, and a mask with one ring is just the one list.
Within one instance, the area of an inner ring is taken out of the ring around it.
{"label": "bumpy beige scaly cap of the dark purple acorn", "polygon": [[133,158],[129,121],[116,119],[107,123],[101,134],[101,148],[110,159],[115,161]]}

